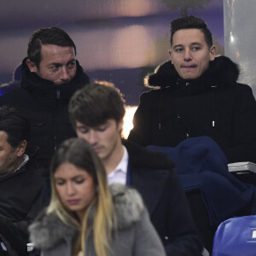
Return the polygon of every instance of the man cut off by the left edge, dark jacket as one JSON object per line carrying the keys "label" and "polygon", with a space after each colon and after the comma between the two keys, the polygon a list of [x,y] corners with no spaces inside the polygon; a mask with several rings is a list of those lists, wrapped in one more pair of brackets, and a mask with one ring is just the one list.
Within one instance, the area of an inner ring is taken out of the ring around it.
{"label": "man cut off by the left edge, dark jacket", "polygon": [[29,133],[24,113],[0,108],[0,255],[27,255],[27,225],[39,211],[44,170],[35,161],[38,148],[26,148]]}

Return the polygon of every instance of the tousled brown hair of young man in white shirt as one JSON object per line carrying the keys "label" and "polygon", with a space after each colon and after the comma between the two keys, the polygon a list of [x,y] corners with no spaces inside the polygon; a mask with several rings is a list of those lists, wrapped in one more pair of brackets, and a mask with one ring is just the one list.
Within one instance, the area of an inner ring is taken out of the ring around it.
{"label": "tousled brown hair of young man in white shirt", "polygon": [[118,123],[124,118],[125,105],[120,91],[106,81],[85,85],[69,102],[68,112],[73,127],[76,121],[90,127],[104,124],[108,119]]}

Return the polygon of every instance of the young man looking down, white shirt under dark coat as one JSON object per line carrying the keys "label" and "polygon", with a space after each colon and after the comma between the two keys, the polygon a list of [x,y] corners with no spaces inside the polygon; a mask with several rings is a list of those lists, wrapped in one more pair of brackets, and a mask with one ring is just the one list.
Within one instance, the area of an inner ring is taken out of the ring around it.
{"label": "young man looking down, white shirt under dark coat", "polygon": [[141,193],[167,255],[201,255],[201,240],[172,161],[165,154],[122,142],[125,108],[118,91],[88,85],[73,95],[69,114],[78,136],[101,158],[108,183],[128,184]]}

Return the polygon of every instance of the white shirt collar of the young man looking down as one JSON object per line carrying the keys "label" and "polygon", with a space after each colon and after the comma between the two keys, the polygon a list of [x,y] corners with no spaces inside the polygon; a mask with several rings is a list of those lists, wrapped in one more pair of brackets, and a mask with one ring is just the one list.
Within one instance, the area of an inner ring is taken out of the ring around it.
{"label": "white shirt collar of the young man looking down", "polygon": [[126,173],[127,173],[127,167],[128,167],[128,152],[125,146],[123,145],[124,148],[124,154],[122,159],[119,161],[119,164],[115,167],[113,172],[110,172],[108,174],[108,184],[113,184],[113,183],[121,183],[125,184],[126,183]]}

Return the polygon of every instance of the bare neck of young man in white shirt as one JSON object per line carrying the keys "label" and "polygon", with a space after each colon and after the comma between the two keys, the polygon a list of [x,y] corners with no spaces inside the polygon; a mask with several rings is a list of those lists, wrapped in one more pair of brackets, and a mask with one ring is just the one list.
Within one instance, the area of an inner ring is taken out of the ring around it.
{"label": "bare neck of young man in white shirt", "polygon": [[124,155],[124,148],[121,140],[119,140],[117,146],[114,148],[112,154],[108,159],[102,160],[103,165],[106,169],[107,175],[110,172],[113,172],[116,166],[118,166],[120,160],[122,160],[122,157]]}

